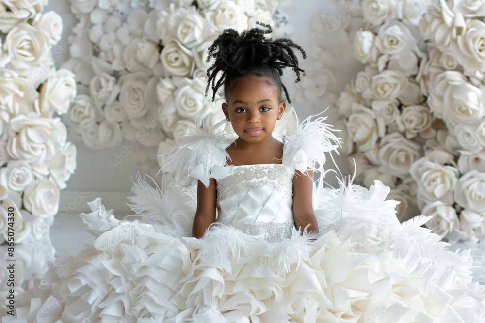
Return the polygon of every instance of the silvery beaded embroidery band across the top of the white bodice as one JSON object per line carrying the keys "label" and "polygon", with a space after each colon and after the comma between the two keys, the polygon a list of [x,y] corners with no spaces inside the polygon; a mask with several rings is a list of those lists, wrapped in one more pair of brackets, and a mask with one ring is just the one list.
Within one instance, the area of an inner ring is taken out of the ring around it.
{"label": "silvery beaded embroidery band across the top of the white bodice", "polygon": [[217,199],[242,189],[244,185],[260,188],[272,184],[278,192],[293,195],[293,175],[283,164],[257,164],[236,167],[234,173],[216,180]]}

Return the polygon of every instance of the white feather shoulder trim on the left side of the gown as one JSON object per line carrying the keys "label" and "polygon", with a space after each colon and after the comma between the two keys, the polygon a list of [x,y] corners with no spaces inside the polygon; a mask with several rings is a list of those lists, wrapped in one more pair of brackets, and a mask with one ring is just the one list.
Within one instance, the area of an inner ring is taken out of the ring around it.
{"label": "white feather shoulder trim on the left side of the gown", "polygon": [[[219,130],[222,124],[225,127]],[[200,180],[206,187],[209,186],[209,179],[213,177],[212,168],[225,166],[226,160],[229,158],[226,147],[233,140],[223,134],[227,125],[228,123],[224,120],[214,124],[209,132],[199,128],[198,135],[186,135],[178,138],[176,144],[162,154],[162,156],[167,155],[167,158],[159,172],[174,174],[180,179],[182,186],[189,183],[195,185],[197,180]],[[218,173],[220,170],[218,168]],[[222,176],[222,174],[220,175]]]}

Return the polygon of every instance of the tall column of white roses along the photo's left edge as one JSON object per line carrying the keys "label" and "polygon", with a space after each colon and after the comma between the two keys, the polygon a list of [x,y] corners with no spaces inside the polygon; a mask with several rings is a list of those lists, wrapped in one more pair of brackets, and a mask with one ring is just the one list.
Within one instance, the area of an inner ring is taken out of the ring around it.
{"label": "tall column of white roses along the photo's left edge", "polygon": [[[60,118],[76,83],[72,72],[54,66],[63,24],[55,12],[43,12],[46,4],[0,4],[0,251],[2,263],[16,261],[16,293],[54,259],[49,229],[59,191],[76,169],[76,146]],[[8,279],[2,266],[4,300]]]}

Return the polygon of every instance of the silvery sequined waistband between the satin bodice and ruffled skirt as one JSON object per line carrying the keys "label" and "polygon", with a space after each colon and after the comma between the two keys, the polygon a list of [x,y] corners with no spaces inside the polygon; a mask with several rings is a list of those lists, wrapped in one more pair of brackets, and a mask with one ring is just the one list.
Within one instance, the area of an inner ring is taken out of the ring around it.
{"label": "silvery sequined waistband between the satin bodice and ruffled skirt", "polygon": [[284,238],[290,239],[295,227],[294,222],[288,220],[280,223],[269,222],[264,224],[234,224],[228,221],[217,221],[216,223],[232,226],[248,235],[261,235],[261,238],[268,242],[275,242]]}

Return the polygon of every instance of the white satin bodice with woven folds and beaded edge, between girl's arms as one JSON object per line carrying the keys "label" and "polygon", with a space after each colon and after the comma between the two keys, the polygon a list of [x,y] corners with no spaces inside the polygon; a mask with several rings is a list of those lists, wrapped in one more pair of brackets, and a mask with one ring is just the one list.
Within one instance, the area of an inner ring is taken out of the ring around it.
{"label": "white satin bodice with woven folds and beaded edge, between girl's arms", "polygon": [[228,166],[217,182],[216,222],[268,240],[291,237],[293,172],[283,164]]}

